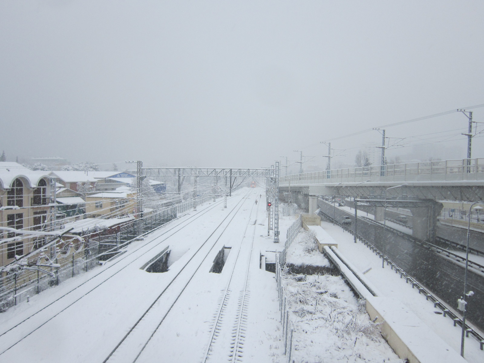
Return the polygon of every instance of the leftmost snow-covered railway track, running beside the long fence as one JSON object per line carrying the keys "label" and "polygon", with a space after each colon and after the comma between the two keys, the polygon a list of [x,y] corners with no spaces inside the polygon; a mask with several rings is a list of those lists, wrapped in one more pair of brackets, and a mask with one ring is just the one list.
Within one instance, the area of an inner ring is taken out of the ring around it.
{"label": "leftmost snow-covered railway track, running beside the long fence", "polygon": [[[142,243],[135,249],[124,254],[122,257],[115,259],[112,263],[106,266],[103,270],[95,273],[92,277],[76,285],[74,288],[70,288],[68,291],[62,293],[60,296],[55,296],[52,301],[44,304],[40,309],[36,310],[27,317],[16,319],[12,318],[10,321],[2,324],[0,331],[0,345],[2,347],[0,356],[7,352],[9,349],[15,347],[18,343],[22,342],[25,338],[35,333],[38,329],[42,328],[46,323],[56,318],[62,312],[66,311],[81,299],[88,296],[91,292],[98,287],[103,286],[108,280],[125,270],[133,263],[137,263],[141,257],[150,253],[153,249],[158,247],[161,243],[165,242],[168,238],[183,230],[183,228],[189,226],[195,222],[198,218],[202,217],[207,212],[212,211],[215,207],[220,206],[222,201],[213,203],[197,214],[191,215],[186,220],[179,224],[171,226],[169,228],[166,225],[161,226],[158,230],[166,228],[155,240]],[[169,224],[173,224],[173,221]],[[153,233],[153,232],[151,232]],[[153,243],[154,242],[154,243]],[[63,302],[68,296],[72,294],[78,294],[74,300],[70,299],[68,302]],[[54,294],[53,294],[54,295]],[[32,323],[32,320],[35,320]],[[29,322],[31,325],[29,328],[24,328],[24,325]],[[14,338],[12,338],[12,336]]]}

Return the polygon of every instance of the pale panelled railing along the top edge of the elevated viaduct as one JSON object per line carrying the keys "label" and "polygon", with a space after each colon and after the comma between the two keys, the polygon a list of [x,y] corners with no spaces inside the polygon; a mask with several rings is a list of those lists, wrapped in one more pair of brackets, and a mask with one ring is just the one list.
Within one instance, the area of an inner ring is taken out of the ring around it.
{"label": "pale panelled railing along the top edge of the elevated viaduct", "polygon": [[[468,165],[469,163],[469,165]],[[484,181],[484,158],[362,166],[281,177],[279,185],[371,181]]]}

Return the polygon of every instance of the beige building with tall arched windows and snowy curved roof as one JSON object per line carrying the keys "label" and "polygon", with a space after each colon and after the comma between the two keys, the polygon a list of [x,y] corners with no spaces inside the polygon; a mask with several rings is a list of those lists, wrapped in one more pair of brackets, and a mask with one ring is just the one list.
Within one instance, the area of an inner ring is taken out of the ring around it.
{"label": "beige building with tall arched windows and snowy curved roof", "polygon": [[[0,162],[0,227],[15,230],[47,230],[53,209],[50,204],[50,177],[17,163]],[[5,266],[42,246],[43,238],[27,238],[12,230],[0,229],[0,266]]]}

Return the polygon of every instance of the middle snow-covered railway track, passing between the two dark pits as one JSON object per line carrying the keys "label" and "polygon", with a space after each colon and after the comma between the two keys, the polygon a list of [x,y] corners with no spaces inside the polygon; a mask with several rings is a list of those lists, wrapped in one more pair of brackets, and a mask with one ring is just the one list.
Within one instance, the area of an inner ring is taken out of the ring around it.
{"label": "middle snow-covered railway track, passing between the two dark pits", "polygon": [[222,222],[213,229],[211,235],[201,243],[192,257],[181,267],[175,277],[166,285],[161,293],[152,301],[151,305],[138,318],[136,323],[118,342],[104,359],[107,362],[136,362],[147,346],[151,338],[158,331],[165,318],[176,306],[186,287],[190,284],[200,266],[206,262],[211,252],[217,246],[224,232],[240,211],[247,199],[247,193],[227,214]]}

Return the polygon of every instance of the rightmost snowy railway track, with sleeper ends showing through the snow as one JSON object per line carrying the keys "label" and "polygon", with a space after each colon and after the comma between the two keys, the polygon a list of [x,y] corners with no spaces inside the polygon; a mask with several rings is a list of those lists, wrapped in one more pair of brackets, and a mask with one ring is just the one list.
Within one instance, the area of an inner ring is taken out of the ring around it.
{"label": "rightmost snowy railway track, with sleeper ends showing through the snow", "polygon": [[[256,207],[255,210],[255,215],[251,211],[235,263],[230,272],[230,279],[222,290],[223,294],[219,299],[218,309],[213,316],[212,332],[208,347],[205,349],[204,363],[242,361],[250,297],[250,267],[258,208]],[[250,235],[247,236],[249,230]],[[237,300],[234,299],[235,296],[232,296],[236,291],[239,291]]]}

